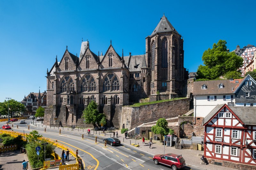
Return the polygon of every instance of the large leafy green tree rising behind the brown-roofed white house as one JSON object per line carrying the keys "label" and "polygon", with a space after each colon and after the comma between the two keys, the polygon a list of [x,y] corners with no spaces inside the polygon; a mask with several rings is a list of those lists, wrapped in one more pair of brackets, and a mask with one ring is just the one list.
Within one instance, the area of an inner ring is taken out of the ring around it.
{"label": "large leafy green tree rising behind the brown-roofed white house", "polygon": [[[199,65],[197,69],[197,79],[207,78],[210,80],[219,78],[220,76],[239,75],[237,71],[243,64],[243,58],[236,55],[235,52],[227,52],[227,42],[219,40],[214,43],[212,49],[204,51],[202,60],[204,65]],[[237,73],[235,73],[237,72]]]}

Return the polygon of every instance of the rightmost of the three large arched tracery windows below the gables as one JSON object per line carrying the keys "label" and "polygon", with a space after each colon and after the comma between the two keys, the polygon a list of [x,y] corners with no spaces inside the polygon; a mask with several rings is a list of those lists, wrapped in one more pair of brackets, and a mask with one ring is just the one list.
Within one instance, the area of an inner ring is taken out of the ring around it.
{"label": "rightmost of the three large arched tracery windows below the gables", "polygon": [[117,91],[120,88],[120,83],[118,78],[116,77],[116,75],[114,75],[113,73],[108,74],[108,76],[106,76],[104,78],[103,81],[103,85],[102,85],[102,91],[106,92],[106,91]]}

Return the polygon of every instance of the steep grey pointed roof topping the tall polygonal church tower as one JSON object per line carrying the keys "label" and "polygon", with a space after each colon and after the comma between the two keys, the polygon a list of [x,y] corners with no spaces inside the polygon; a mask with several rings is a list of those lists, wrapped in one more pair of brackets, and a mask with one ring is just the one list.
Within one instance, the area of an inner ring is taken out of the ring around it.
{"label": "steep grey pointed roof topping the tall polygonal church tower", "polygon": [[156,33],[170,32],[170,31],[174,31],[175,33],[179,34],[176,31],[176,29],[172,26],[172,24],[168,21],[168,19],[165,16],[163,16],[150,36],[153,36]]}

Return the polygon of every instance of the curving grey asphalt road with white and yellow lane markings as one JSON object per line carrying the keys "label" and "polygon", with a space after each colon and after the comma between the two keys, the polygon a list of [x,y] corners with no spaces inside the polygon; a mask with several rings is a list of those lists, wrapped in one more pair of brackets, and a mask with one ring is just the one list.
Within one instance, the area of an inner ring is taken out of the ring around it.
{"label": "curving grey asphalt road with white and yellow lane markings", "polygon": [[[106,169],[106,170],[116,170],[116,169],[138,169],[138,170],[155,170],[155,169],[171,169],[169,166],[165,165],[155,165],[152,160],[153,155],[149,152],[141,151],[136,147],[131,147],[131,145],[121,144],[119,146],[110,146],[107,144],[107,148],[104,147],[103,139],[104,136],[97,135],[97,144],[95,143],[95,135],[85,135],[82,139],[81,134],[73,131],[63,131],[59,134],[58,128],[47,127],[47,131],[44,132],[44,128],[35,127],[30,124],[30,130],[28,130],[28,125],[33,120],[26,120],[26,124],[20,124],[19,122],[13,122],[13,130],[19,132],[29,133],[31,130],[37,130],[44,137],[58,140],[74,151],[78,150],[79,156],[83,159],[85,164],[85,169]],[[1,127],[4,123],[0,123]],[[17,129],[17,125],[19,129]],[[12,126],[12,125],[10,125]],[[58,153],[59,155],[61,153]],[[184,170],[201,170],[197,167],[185,166]]]}

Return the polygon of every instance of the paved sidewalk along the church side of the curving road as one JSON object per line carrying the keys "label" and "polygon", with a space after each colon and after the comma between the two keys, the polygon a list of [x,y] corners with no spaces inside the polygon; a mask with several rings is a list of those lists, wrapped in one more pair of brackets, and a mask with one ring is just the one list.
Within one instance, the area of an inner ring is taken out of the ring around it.
{"label": "paved sidewalk along the church side of the curving road", "polygon": [[[42,128],[41,122],[37,123],[37,127]],[[43,125],[43,129],[45,127],[47,129],[50,129],[49,126]],[[51,127],[51,128],[53,128],[53,127]],[[58,127],[57,128],[55,127],[55,129],[58,129]],[[66,130],[71,131],[70,128],[60,127],[59,129],[61,129],[61,133],[65,133]],[[135,146],[130,145],[130,143],[131,144],[133,144],[133,143],[139,144],[140,146],[137,147],[137,148],[142,150],[142,151],[149,152],[152,155],[152,157],[156,154],[174,153],[174,154],[177,154],[177,155],[182,155],[182,157],[186,161],[186,165],[188,165],[188,166],[195,166],[195,167],[199,167],[199,168],[202,168],[202,169],[205,169],[205,170],[223,170],[223,169],[225,169],[225,170],[234,170],[232,168],[227,168],[227,167],[224,167],[224,166],[217,166],[217,165],[211,165],[211,164],[208,164],[208,165],[200,164],[201,163],[200,158],[201,158],[202,154],[204,153],[204,151],[187,150],[187,149],[175,149],[175,147],[169,147],[169,146],[164,147],[162,142],[154,141],[154,140],[153,140],[153,144],[151,145],[151,148],[149,148],[149,144],[148,144],[149,140],[145,141],[146,144],[142,144],[142,139],[136,140],[136,142],[135,142],[135,139],[124,139],[124,134],[121,134],[121,130],[120,129],[115,130],[115,132],[116,131],[118,132],[118,138],[120,139],[121,144],[124,144],[126,147],[129,147],[131,149],[133,147],[135,148]],[[82,134],[85,135],[86,132],[87,132],[87,129],[84,129],[84,132],[83,132],[83,129],[75,128],[74,132],[81,133],[81,135]],[[99,135],[99,133],[101,135],[101,131],[97,131],[97,135]],[[105,131],[105,133],[106,133],[106,137],[110,137],[110,135],[111,135],[111,137],[113,137],[113,132],[109,133],[108,131]],[[96,131],[91,130],[91,134],[96,135]],[[164,148],[165,148],[165,150],[164,150]]]}

